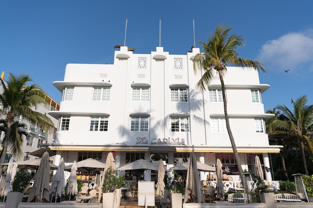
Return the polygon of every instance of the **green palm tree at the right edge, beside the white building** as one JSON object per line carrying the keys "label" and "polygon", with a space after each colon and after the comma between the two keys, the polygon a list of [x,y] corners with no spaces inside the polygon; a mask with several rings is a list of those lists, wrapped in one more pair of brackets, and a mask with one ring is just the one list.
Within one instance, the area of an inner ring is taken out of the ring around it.
{"label": "green palm tree at the right edge, beside the white building", "polygon": [[311,139],[313,105],[307,105],[306,95],[295,101],[291,99],[291,104],[293,106],[292,110],[289,110],[285,105],[278,105],[276,107],[281,111],[281,116],[269,125],[268,134],[284,136],[292,139],[293,143],[299,144],[305,175],[308,175],[305,148],[313,153],[313,140]]}

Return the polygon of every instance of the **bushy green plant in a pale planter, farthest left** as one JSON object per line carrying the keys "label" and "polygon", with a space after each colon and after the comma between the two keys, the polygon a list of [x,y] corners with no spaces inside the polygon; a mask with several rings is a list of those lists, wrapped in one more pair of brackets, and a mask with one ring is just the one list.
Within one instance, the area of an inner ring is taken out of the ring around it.
{"label": "bushy green plant in a pale planter, farthest left", "polygon": [[29,186],[33,173],[29,173],[25,169],[19,169],[16,172],[12,184],[12,192],[7,193],[6,208],[16,208],[18,203],[23,199],[25,189]]}

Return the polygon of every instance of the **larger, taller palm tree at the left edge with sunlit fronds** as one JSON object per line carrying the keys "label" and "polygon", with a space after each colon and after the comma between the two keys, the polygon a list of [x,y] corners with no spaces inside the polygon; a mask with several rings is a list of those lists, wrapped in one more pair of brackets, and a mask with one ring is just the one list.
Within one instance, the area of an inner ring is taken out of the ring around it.
{"label": "larger, taller palm tree at the left edge with sunlit fronds", "polygon": [[[6,153],[11,126],[16,116],[23,117],[23,119],[28,120],[46,132],[54,130],[53,122],[46,115],[32,110],[32,108],[36,108],[37,104],[45,103],[45,101],[43,91],[36,84],[27,85],[27,82],[31,81],[28,75],[14,76],[11,73],[8,76],[7,82],[0,79],[0,85],[3,91],[0,94],[0,102],[3,106],[3,109],[0,109],[0,113],[4,115],[7,125],[3,139],[3,153]],[[0,164],[3,164],[4,160],[5,154],[2,154]],[[2,168],[0,169],[0,174],[2,174]]]}

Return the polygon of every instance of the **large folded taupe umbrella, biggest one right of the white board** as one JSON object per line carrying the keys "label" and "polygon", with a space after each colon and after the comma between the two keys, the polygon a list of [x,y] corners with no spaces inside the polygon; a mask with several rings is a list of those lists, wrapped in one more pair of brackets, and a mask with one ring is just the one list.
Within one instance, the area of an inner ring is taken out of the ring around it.
{"label": "large folded taupe umbrella, biggest one right of the white board", "polygon": [[186,187],[185,187],[185,198],[183,203],[188,201],[188,196],[192,198],[194,203],[204,203],[204,197],[202,192],[202,185],[200,181],[199,171],[196,167],[196,160],[194,152],[190,153],[188,160]]}

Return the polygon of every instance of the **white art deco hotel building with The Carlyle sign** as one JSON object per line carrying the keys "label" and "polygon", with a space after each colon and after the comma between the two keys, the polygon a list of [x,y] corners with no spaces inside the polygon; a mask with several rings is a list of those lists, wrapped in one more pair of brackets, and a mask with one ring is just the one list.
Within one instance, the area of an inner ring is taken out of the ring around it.
{"label": "white art deco hotel building with The Carlyle sign", "polygon": [[[156,47],[150,54],[135,54],[124,46],[115,51],[113,64],[67,64],[64,80],[53,83],[62,92],[59,111],[49,112],[58,119],[55,142],[49,144],[56,150],[54,163],[60,158],[105,162],[113,152],[116,167],[162,159],[169,169],[194,151],[205,164],[221,159],[224,171],[235,176],[218,75],[206,91],[195,88],[200,73],[194,74],[193,58],[199,52],[192,48],[175,55]],[[253,173],[258,155],[270,182],[269,153],[280,146],[269,145],[264,127],[273,116],[264,113],[261,100],[269,85],[259,83],[257,71],[239,67],[227,68],[224,83],[242,169]]]}

